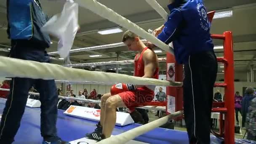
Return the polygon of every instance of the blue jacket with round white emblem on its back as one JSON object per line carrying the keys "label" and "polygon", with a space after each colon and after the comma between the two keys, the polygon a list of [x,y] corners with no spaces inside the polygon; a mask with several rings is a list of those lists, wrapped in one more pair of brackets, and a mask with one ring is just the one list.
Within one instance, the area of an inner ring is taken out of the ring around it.
{"label": "blue jacket with round white emblem on its back", "polygon": [[170,16],[157,38],[166,44],[173,42],[179,64],[187,64],[193,53],[213,51],[211,23],[203,0],[175,0],[168,8]]}

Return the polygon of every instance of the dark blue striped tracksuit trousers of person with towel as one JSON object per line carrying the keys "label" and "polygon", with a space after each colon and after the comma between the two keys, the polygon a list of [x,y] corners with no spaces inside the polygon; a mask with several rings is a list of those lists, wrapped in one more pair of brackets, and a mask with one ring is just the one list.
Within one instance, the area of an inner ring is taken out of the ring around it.
{"label": "dark blue striped tracksuit trousers of person with towel", "polygon": [[[11,57],[18,59],[49,62],[44,50],[13,47]],[[29,71],[29,69],[27,69]],[[5,103],[0,124],[0,144],[14,141],[27,103],[29,89],[34,86],[40,93],[41,101],[41,135],[44,139],[57,139],[56,120],[58,95],[54,80],[12,78],[10,94]],[[25,133],[24,133],[25,134]]]}

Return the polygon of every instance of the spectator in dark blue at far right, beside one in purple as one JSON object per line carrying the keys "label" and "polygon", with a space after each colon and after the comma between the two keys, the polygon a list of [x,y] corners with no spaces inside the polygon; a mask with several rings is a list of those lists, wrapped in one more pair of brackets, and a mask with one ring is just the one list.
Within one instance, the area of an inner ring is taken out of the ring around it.
{"label": "spectator in dark blue at far right, beside one in purple", "polygon": [[245,89],[245,96],[242,99],[242,127],[245,127],[246,115],[248,112],[248,107],[251,100],[254,98],[254,89],[252,87],[248,87]]}

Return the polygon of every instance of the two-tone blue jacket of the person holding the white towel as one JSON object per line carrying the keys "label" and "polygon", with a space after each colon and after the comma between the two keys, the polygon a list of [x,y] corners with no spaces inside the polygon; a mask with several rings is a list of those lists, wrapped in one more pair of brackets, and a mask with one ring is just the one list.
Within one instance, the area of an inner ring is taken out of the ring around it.
{"label": "two-tone blue jacket of the person holding the white towel", "polygon": [[7,0],[8,38],[12,46],[37,48],[50,47],[48,34],[41,27],[48,20],[40,0]]}

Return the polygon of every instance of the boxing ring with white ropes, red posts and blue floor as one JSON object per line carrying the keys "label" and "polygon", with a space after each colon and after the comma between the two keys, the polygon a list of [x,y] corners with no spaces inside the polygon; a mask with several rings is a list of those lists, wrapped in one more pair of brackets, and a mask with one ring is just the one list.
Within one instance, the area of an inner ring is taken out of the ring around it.
{"label": "boxing ring with white ropes, red posts and blue floor", "polygon": [[[150,42],[157,45],[159,48],[168,52],[166,57],[166,62],[170,62],[170,56],[173,58],[173,49],[165,43],[161,42],[155,36],[145,32],[140,27],[133,24],[131,21],[125,19],[119,14],[115,13],[115,11],[107,8],[106,6],[98,3],[96,0],[76,0],[80,6],[88,8],[89,10],[97,13],[98,15],[109,19],[110,21],[119,24],[126,29],[131,30],[132,32],[136,32],[141,37],[146,38]],[[150,0],[148,1],[150,2]],[[156,4],[156,3],[155,3]],[[152,7],[156,9],[157,12],[160,13],[161,9],[157,9],[154,7],[154,4],[151,3]],[[163,11],[162,11],[163,12]],[[160,15],[166,19],[167,13],[161,13]],[[226,144],[234,144],[235,143],[235,121],[234,121],[234,60],[233,60],[233,47],[232,47],[232,32],[224,32],[223,35],[211,35],[212,38],[224,40],[224,57],[217,58],[219,63],[224,63],[224,83],[216,83],[216,87],[224,87],[225,88],[225,102],[223,103],[213,103],[213,112],[220,113],[220,131],[219,133],[214,133],[217,137],[223,138]],[[112,45],[113,47],[122,46],[123,43],[117,43]],[[103,47],[96,46],[98,49]],[[83,48],[77,50],[71,50],[71,52],[78,51],[91,51],[92,49],[96,50],[97,48]],[[105,46],[104,48],[111,48]],[[48,53],[50,55],[56,54],[56,52]],[[165,59],[164,59],[165,60]],[[172,61],[172,60],[171,60]],[[175,62],[175,61],[174,61]],[[109,62],[105,64],[120,64],[121,62]],[[131,64],[132,61],[122,61],[122,63]],[[101,63],[102,64],[102,63]],[[35,61],[25,61],[20,59],[6,58],[0,56],[0,77],[28,77],[34,79],[45,79],[45,80],[60,80],[60,81],[72,81],[83,83],[85,81],[93,82],[93,83],[131,83],[136,85],[158,85],[158,86],[167,86],[171,93],[177,99],[176,103],[176,111],[182,110],[182,76],[181,74],[175,77],[175,81],[164,81],[164,80],[155,80],[151,78],[142,78],[142,77],[133,77],[128,75],[121,75],[115,73],[106,73],[106,72],[91,72],[83,69],[74,69],[69,68],[73,66],[85,66],[90,64],[76,64],[76,65],[66,65],[65,67],[56,65],[56,64],[46,64],[39,63]],[[91,65],[96,65],[91,64]],[[181,65],[176,64],[176,73],[182,73]],[[27,71],[27,69],[30,69]],[[72,75],[70,75],[72,74]],[[63,98],[65,99],[65,98]],[[96,101],[94,101],[96,102]],[[3,108],[5,105],[5,100],[0,99],[0,113],[3,112]],[[153,106],[166,106],[167,103],[158,103],[151,102],[145,103],[144,106],[153,105]],[[167,108],[166,108],[167,110]],[[64,140],[74,141],[77,139],[81,139],[85,136],[85,133],[89,133],[95,129],[96,122],[90,120],[84,120],[76,117],[70,117],[63,114],[63,110],[59,110],[58,112],[58,120],[57,120],[57,129],[58,134]],[[173,119],[182,115],[182,112],[179,115],[173,112],[169,116],[163,117],[161,119],[161,123],[158,125],[163,125],[169,119]],[[222,114],[225,115],[224,123]],[[175,115],[172,117],[172,115]],[[160,120],[160,119],[159,119]],[[157,121],[157,120],[156,120]],[[153,124],[152,124],[153,123]],[[156,123],[156,122],[155,122]],[[150,126],[149,126],[150,125]],[[159,126],[154,125],[154,122],[148,123],[146,125],[139,124],[130,124],[123,127],[115,126],[113,131],[113,135],[108,139],[104,139],[99,143],[106,142],[109,143],[117,143],[120,139],[125,139],[125,141],[133,141],[132,143],[136,144],[187,144],[188,136],[187,132],[170,130],[165,128],[158,128]],[[147,127],[147,129],[146,129]],[[150,127],[150,128],[149,128]],[[142,130],[144,128],[144,130]],[[140,131],[139,131],[140,129]],[[131,131],[130,131],[131,130]],[[136,131],[138,130],[138,131]],[[147,130],[147,131],[145,131]],[[136,133],[134,132],[136,131]],[[143,131],[143,132],[142,132]],[[127,133],[134,132],[134,137],[129,137]],[[28,134],[25,134],[28,133]],[[222,139],[217,138],[216,136],[211,136],[212,144],[220,144]],[[40,108],[28,108],[26,107],[25,113],[21,120],[21,127],[15,137],[14,144],[39,144],[42,141],[40,136]],[[141,143],[143,142],[143,143]],[[77,143],[77,144],[87,144],[88,142]],[[89,143],[88,143],[89,144]],[[91,143],[90,143],[91,144]]]}

